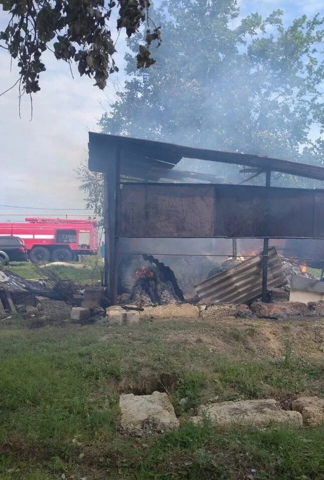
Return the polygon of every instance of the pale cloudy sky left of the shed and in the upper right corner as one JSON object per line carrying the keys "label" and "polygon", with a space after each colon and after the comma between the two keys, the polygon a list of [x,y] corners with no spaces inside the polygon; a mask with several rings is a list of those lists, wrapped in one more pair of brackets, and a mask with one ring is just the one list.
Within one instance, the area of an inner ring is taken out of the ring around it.
{"label": "pale cloudy sky left of the shed and in the upper right corner", "polygon": [[[323,14],[322,0],[241,0],[241,16],[259,12],[266,16],[274,9],[284,11],[285,23],[306,14]],[[0,11],[0,30],[7,23],[8,14]],[[122,67],[125,43],[120,36],[116,62]],[[10,72],[10,56],[0,49],[0,92],[18,78],[15,61]],[[58,62],[49,52],[47,72],[41,76],[41,91],[34,96],[33,120],[30,121],[30,103],[22,103],[22,118],[18,113],[18,92],[11,90],[0,97],[0,205],[59,209],[83,208],[83,194],[79,192],[74,170],[87,158],[88,131],[98,130],[97,122],[113,99],[116,82],[123,82],[121,68],[111,77],[106,90],[100,91],[89,78],[74,79],[68,66]],[[75,69],[76,70],[76,69]],[[26,208],[0,206],[0,213],[32,213]],[[0,221],[7,220],[0,216]]]}

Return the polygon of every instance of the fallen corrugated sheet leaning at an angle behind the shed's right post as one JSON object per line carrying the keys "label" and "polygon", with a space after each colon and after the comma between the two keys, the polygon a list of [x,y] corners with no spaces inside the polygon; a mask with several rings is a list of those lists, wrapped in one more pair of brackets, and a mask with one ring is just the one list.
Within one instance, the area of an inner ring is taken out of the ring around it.
{"label": "fallen corrugated sheet leaning at an angle behind the shed's right post", "polygon": [[[268,288],[285,283],[280,259],[274,247],[269,248]],[[207,303],[244,303],[262,292],[262,253],[194,286],[200,299]]]}

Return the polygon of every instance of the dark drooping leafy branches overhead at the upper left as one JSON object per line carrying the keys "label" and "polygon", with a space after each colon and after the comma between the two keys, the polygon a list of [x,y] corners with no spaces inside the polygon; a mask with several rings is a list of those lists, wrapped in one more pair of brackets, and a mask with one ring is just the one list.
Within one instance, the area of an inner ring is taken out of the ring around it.
{"label": "dark drooping leafy branches overhead at the upper left", "polygon": [[110,25],[114,9],[119,9],[117,30],[131,37],[146,21],[146,45],[137,54],[139,67],[155,61],[150,57],[152,41],[160,43],[159,27],[149,17],[148,0],[0,0],[9,12],[7,28],[0,41],[18,61],[20,86],[28,94],[40,90],[40,73],[46,70],[43,54],[52,50],[58,60],[76,62],[80,75],[95,79],[103,89],[108,76],[116,72],[116,52]]}

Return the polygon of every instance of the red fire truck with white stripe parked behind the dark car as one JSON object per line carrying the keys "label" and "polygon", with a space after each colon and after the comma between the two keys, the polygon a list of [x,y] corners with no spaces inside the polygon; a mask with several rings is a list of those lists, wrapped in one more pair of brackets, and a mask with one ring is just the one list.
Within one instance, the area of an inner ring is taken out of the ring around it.
{"label": "red fire truck with white stripe parked behind the dark car", "polygon": [[97,220],[27,217],[22,223],[0,223],[0,235],[23,239],[32,262],[67,262],[98,253]]}

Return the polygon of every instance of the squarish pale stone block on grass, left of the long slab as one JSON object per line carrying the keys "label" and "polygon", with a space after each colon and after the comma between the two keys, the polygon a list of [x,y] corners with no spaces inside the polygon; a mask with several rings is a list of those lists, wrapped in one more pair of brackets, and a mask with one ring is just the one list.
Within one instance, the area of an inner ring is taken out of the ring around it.
{"label": "squarish pale stone block on grass, left of the long slab", "polygon": [[125,433],[163,433],[179,427],[173,405],[166,393],[123,394],[119,399],[121,428]]}

